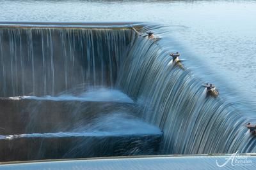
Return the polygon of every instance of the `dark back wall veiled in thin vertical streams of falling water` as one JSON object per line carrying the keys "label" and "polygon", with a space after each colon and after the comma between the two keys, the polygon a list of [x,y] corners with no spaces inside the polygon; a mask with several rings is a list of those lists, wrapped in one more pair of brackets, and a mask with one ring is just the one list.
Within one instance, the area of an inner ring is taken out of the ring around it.
{"label": "dark back wall veiled in thin vertical streams of falling water", "polygon": [[0,29],[0,96],[56,95],[74,85],[113,87],[129,29]]}

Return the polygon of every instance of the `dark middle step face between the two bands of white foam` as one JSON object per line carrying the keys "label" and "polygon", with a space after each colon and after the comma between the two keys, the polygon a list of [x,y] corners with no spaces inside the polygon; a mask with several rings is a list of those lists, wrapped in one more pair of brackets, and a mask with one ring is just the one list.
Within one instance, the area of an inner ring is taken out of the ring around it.
{"label": "dark middle step face between the two bands of white foam", "polygon": [[0,134],[65,132],[109,113],[140,117],[132,103],[0,99]]}

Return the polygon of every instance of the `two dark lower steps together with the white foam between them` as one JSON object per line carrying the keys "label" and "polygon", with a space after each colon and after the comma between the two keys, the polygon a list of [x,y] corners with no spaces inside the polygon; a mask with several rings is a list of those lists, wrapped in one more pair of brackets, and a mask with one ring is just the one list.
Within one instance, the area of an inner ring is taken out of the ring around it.
{"label": "two dark lower steps together with the white foam between them", "polygon": [[2,98],[0,110],[0,161],[150,155],[161,143],[161,132],[132,127],[131,103]]}

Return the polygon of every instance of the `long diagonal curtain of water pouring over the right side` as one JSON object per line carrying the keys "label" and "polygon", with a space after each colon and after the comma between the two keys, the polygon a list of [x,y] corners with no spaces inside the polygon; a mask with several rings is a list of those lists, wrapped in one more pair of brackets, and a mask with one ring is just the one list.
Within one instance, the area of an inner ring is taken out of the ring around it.
{"label": "long diagonal curtain of water pouring over the right side", "polygon": [[220,97],[205,97],[203,81],[168,65],[168,51],[138,37],[118,74],[118,85],[142,106],[143,118],[164,132],[164,154],[255,152],[244,134],[246,115]]}

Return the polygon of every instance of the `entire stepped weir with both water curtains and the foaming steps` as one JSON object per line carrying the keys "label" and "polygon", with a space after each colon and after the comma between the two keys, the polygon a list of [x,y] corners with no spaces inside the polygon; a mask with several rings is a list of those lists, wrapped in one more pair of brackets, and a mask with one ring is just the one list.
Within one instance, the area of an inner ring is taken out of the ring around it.
{"label": "entire stepped weir with both water curtains and the foaming steps", "polygon": [[[149,30],[156,39],[140,36]],[[157,30],[0,23],[2,160],[255,152],[241,126],[255,115],[205,98],[192,70],[168,64],[177,50]]]}

